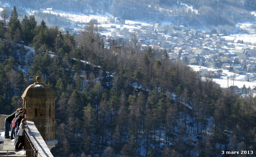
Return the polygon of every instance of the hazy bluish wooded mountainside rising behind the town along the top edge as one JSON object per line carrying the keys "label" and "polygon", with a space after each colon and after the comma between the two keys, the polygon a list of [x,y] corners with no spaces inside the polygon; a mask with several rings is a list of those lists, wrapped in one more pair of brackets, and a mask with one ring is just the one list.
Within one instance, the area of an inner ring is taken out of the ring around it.
{"label": "hazy bluish wooded mountainside rising behind the town along the top edge", "polygon": [[[225,5],[223,5],[225,3]],[[19,5],[18,5],[19,4]],[[12,9],[17,5],[20,16],[24,10],[52,8],[76,14],[109,14],[126,20],[152,21],[153,23],[169,22],[184,26],[233,26],[237,22],[254,20],[249,11],[243,8],[243,2],[232,0],[207,3],[204,0],[0,0],[1,6]],[[41,17],[45,18],[45,17]],[[58,25],[59,24],[55,24]]]}

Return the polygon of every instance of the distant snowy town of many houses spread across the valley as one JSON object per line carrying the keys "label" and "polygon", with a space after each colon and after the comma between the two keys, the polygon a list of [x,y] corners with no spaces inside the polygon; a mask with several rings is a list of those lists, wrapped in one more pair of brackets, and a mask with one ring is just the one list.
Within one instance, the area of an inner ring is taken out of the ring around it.
{"label": "distant snowy town of many houses spread across the valley", "polygon": [[[106,18],[105,21],[91,19],[89,22],[102,27],[106,47],[110,46],[109,38],[115,40],[118,46],[123,46],[135,37],[140,50],[145,50],[150,46],[159,52],[166,50],[170,60],[180,60],[187,65],[213,68],[213,70],[207,68],[198,70],[202,77],[221,78],[223,70],[228,70],[237,76],[250,75],[244,81],[256,81],[254,75],[256,72],[256,41],[254,42],[254,39],[248,42],[241,38],[230,38],[227,34],[221,34],[217,30],[206,32],[172,24],[144,24],[121,18]],[[75,33],[75,30],[73,28],[62,29],[62,31],[71,33]],[[238,28],[236,33],[245,35],[252,32],[248,28]],[[231,88],[243,94],[241,88],[237,86]],[[250,86],[245,94],[255,97],[255,86]]]}

